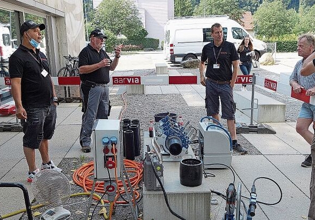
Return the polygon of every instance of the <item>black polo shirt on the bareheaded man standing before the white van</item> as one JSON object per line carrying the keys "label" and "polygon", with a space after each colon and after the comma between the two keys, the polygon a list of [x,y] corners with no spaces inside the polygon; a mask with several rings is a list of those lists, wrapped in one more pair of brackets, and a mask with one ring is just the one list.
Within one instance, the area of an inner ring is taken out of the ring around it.
{"label": "black polo shirt on the bareheaded man standing before the white van", "polygon": [[[218,59],[217,62],[215,57]],[[223,40],[219,47],[215,46],[213,42],[203,47],[201,61],[205,62],[207,59],[206,77],[217,81],[230,81],[232,79],[232,61],[238,60],[239,56],[234,44]],[[213,65],[216,63],[220,68],[214,68]]]}

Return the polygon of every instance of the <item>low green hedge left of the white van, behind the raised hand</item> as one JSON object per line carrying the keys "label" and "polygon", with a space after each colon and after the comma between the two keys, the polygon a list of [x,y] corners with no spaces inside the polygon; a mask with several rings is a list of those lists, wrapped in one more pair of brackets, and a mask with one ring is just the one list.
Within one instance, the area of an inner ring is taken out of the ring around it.
{"label": "low green hedge left of the white van, behind the raised hand", "polygon": [[[126,39],[126,38],[120,38],[117,39],[117,44],[123,44],[124,47],[128,46],[128,48],[131,48],[130,45],[132,46],[138,46],[138,48],[153,48],[157,49],[158,48],[158,43],[159,40],[155,38],[142,38],[142,39]],[[126,48],[126,47],[125,47]],[[131,48],[132,49],[132,48]]]}

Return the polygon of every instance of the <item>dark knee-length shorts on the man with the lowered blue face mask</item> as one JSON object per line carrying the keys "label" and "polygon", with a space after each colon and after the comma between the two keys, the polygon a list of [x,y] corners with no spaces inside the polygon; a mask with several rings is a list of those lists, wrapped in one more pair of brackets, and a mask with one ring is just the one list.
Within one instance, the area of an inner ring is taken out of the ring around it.
{"label": "dark knee-length shorts on the man with the lowered blue face mask", "polygon": [[30,108],[26,110],[28,118],[21,120],[23,126],[23,146],[32,149],[40,147],[42,139],[51,139],[54,135],[57,107]]}

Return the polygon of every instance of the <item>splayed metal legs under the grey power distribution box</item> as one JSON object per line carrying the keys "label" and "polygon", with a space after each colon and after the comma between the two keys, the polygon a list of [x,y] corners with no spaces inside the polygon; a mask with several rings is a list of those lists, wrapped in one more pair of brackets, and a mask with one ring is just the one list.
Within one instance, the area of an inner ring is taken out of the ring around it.
{"label": "splayed metal legs under the grey power distribution box", "polygon": [[[131,183],[130,183],[130,180],[129,180],[129,177],[128,177],[128,173],[127,173],[127,170],[126,170],[126,167],[125,167],[124,163],[123,163],[123,175],[122,175],[122,177],[120,177],[118,179],[121,180],[122,183],[123,183],[123,186],[124,186],[125,192],[127,194],[127,199],[128,199],[128,202],[129,202],[129,205],[130,205],[131,212],[133,214],[134,220],[137,220],[138,219],[138,205],[137,205],[137,201],[136,201],[136,199],[134,197],[133,197],[133,199],[134,199],[134,202],[135,202],[135,207],[132,205],[132,199],[131,199],[130,194],[133,195],[133,189],[132,189],[132,186],[131,186]],[[129,185],[129,188],[130,188],[130,192],[129,193],[128,193],[128,188],[126,186],[125,180],[127,181],[128,185]],[[93,187],[92,187],[92,191],[91,191],[90,198],[89,198],[89,205],[88,205],[88,208],[87,208],[87,212],[85,214],[85,220],[88,220],[88,217],[89,217],[91,204],[92,204],[92,200],[93,200],[93,194],[95,192],[95,183],[96,183],[96,181],[109,181],[109,179],[96,179],[95,178],[93,180]]]}

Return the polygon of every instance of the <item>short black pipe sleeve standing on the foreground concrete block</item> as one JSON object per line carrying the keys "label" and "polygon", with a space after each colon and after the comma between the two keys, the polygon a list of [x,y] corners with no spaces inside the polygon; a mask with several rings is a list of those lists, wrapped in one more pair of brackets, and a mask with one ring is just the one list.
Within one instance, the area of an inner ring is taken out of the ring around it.
{"label": "short black pipe sleeve standing on the foreground concrete block", "polygon": [[181,184],[187,187],[197,187],[202,184],[202,162],[198,159],[183,159],[179,167]]}

